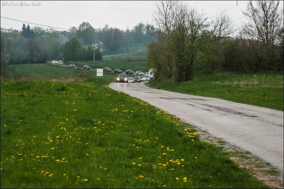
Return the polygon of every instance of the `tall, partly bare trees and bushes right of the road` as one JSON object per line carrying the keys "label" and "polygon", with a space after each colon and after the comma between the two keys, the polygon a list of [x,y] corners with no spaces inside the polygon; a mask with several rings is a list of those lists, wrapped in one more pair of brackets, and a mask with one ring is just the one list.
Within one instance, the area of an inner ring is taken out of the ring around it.
{"label": "tall, partly bare trees and bushes right of the road", "polygon": [[[193,79],[193,70],[283,71],[283,8],[279,1],[249,1],[248,22],[237,34],[225,11],[209,20],[181,1],[156,1],[155,40],[147,45],[148,66],[159,80]],[[233,37],[232,37],[233,36]]]}

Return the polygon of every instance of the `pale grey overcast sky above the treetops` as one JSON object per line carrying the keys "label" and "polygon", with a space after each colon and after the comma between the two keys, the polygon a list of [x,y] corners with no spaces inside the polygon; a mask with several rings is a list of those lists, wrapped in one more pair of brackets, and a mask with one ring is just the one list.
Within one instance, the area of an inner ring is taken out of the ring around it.
{"label": "pale grey overcast sky above the treetops", "polygon": [[[239,28],[245,21],[242,11],[246,10],[249,1],[184,2],[189,7],[196,7],[199,13],[203,10],[208,17],[225,10],[235,27]],[[283,1],[280,1],[282,7]],[[154,9],[154,1],[1,1],[0,26],[20,30],[23,23],[29,23],[31,27],[45,29],[50,26],[56,30],[68,30],[71,26],[78,28],[82,22],[89,22],[93,28],[103,28],[108,24],[109,27],[126,30],[139,22],[152,23]]]}

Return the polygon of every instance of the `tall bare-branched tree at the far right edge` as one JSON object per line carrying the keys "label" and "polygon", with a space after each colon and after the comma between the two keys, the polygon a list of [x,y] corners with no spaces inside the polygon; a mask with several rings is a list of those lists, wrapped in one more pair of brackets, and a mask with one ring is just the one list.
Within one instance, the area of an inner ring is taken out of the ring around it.
{"label": "tall bare-branched tree at the far right edge", "polygon": [[283,67],[277,60],[276,44],[280,40],[279,33],[283,28],[283,10],[279,11],[279,1],[249,1],[246,12],[243,14],[249,22],[244,25],[242,35],[250,46],[249,53],[253,55],[255,69],[275,70]]}

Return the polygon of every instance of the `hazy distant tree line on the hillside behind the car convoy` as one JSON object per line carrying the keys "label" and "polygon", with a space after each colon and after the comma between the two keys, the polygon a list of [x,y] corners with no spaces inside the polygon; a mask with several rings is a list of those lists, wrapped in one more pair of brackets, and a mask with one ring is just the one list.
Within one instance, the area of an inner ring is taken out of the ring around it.
{"label": "hazy distant tree line on the hillside behind the car convoy", "polygon": [[[95,40],[103,43],[105,51],[116,52],[151,41],[149,27],[138,23],[125,31],[109,25],[95,29],[88,22],[82,22],[77,28],[72,26],[67,30],[67,43],[62,43],[54,28],[30,27],[25,23],[20,31],[1,28],[1,67],[63,58],[64,61],[93,60]],[[95,59],[102,59],[99,49],[95,50]]]}

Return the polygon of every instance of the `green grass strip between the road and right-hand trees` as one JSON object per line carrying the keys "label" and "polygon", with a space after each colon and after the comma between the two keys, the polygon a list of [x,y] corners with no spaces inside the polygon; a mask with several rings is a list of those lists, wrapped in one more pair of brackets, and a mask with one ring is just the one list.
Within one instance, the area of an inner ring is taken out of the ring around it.
{"label": "green grass strip between the road and right-hand trees", "polygon": [[151,80],[147,85],[283,111],[283,72],[211,74],[203,71],[196,72],[192,81],[174,83],[172,80]]}

